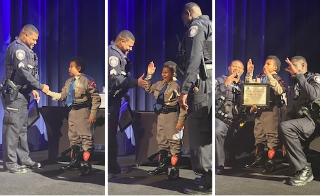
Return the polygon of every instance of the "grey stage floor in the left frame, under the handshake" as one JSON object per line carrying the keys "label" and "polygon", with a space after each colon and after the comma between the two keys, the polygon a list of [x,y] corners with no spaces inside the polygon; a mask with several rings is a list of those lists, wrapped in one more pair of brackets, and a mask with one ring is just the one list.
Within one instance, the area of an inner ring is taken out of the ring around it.
{"label": "grey stage floor in the left frame, under the handshake", "polygon": [[80,177],[79,171],[60,169],[68,164],[69,157],[50,163],[48,150],[30,153],[32,160],[41,163],[41,168],[27,169],[26,174],[9,173],[3,170],[0,152],[0,195],[105,195],[105,151],[95,153],[92,175]]}

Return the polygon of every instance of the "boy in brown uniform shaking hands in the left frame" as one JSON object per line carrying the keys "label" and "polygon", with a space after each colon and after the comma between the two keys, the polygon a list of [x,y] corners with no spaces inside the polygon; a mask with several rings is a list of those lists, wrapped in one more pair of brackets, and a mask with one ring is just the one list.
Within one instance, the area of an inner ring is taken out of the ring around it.
{"label": "boy in brown uniform shaking hands in the left frame", "polygon": [[52,100],[65,101],[69,107],[68,137],[70,140],[70,163],[63,166],[64,170],[80,169],[80,147],[83,149],[83,168],[80,176],[90,174],[91,156],[94,150],[93,124],[96,122],[96,114],[101,104],[99,91],[95,81],[85,71],[85,61],[81,57],[74,57],[70,61],[69,78],[61,93],[49,91],[48,96]]}

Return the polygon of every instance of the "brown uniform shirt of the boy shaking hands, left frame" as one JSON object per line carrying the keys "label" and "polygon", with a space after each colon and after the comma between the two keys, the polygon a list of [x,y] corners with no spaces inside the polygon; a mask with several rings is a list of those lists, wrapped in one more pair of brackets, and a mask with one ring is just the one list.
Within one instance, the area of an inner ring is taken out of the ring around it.
{"label": "brown uniform shirt of the boy shaking hands, left frame", "polygon": [[[77,104],[86,101],[91,102],[92,106],[90,115],[96,116],[101,104],[101,97],[99,96],[99,90],[96,88],[95,81],[90,76],[83,73],[75,76],[75,79],[75,100],[73,103]],[[65,82],[61,93],[49,92],[48,95],[52,97],[52,100],[66,100],[68,89],[72,80],[73,77],[69,78]]]}

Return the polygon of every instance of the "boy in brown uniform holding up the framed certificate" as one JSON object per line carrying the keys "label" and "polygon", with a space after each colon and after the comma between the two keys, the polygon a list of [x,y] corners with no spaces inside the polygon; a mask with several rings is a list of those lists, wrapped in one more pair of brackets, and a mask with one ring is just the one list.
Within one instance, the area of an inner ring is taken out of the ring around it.
{"label": "boy in brown uniform holding up the framed certificate", "polygon": [[[247,168],[255,168],[265,166],[263,173],[272,173],[275,171],[275,148],[279,144],[278,124],[280,123],[281,111],[279,106],[281,103],[281,95],[286,91],[284,80],[277,74],[280,70],[281,62],[276,56],[268,56],[263,66],[263,73],[256,76],[256,82],[253,81],[254,65],[249,59],[247,64],[247,75],[245,82],[249,83],[269,83],[270,84],[270,107],[258,108],[255,110],[255,146],[256,159],[252,164],[247,164]],[[281,107],[281,106],[280,106]],[[265,162],[263,156],[264,147],[268,147],[268,159]]]}

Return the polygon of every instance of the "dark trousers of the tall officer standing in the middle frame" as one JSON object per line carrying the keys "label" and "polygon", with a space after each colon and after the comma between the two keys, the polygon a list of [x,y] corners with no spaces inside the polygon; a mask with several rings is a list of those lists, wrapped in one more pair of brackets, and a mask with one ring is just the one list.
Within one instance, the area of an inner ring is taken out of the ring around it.
{"label": "dark trousers of the tall officer standing in the middle frame", "polygon": [[200,184],[212,188],[212,69],[206,81],[197,83],[199,91],[188,96],[191,163],[192,170],[201,175]]}

